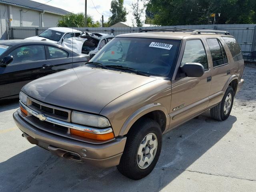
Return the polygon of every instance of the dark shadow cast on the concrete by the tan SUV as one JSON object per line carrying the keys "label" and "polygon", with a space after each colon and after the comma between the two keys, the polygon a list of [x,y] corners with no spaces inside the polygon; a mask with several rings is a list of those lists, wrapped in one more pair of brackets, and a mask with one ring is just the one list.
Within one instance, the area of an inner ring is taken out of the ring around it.
{"label": "dark shadow cast on the concrete by the tan SUV", "polygon": [[160,191],[225,136],[234,122],[234,116],[214,121],[206,112],[168,132],[156,168],[138,181],[122,176],[116,167],[72,162],[34,146],[0,163],[0,191]]}

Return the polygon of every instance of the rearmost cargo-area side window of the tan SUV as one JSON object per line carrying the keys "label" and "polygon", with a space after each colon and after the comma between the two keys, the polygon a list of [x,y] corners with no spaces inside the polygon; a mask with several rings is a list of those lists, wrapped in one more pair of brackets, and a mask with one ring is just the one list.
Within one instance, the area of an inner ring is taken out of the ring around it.
{"label": "rearmost cargo-area side window of the tan SUV", "polygon": [[236,39],[233,37],[222,37],[226,44],[228,45],[228,48],[230,49],[230,52],[233,56],[234,61],[240,61],[243,59],[243,55],[241,52],[241,49],[236,42]]}

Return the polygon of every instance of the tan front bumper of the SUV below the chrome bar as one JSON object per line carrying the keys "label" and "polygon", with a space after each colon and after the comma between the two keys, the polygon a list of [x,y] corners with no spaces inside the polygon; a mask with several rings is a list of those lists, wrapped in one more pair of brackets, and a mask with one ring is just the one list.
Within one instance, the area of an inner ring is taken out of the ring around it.
{"label": "tan front bumper of the SUV below the chrome bar", "polygon": [[119,164],[124,151],[126,137],[116,138],[104,144],[90,144],[40,130],[26,122],[18,112],[14,112],[13,118],[30,143],[70,160],[87,162],[99,167],[111,167]]}

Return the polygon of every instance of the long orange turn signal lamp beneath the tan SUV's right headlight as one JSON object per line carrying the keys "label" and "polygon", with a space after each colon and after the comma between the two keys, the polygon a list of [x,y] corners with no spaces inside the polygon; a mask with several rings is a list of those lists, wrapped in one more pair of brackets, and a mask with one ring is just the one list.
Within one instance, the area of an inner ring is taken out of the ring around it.
{"label": "long orange turn signal lamp beneath the tan SUV's right headlight", "polygon": [[100,141],[106,141],[109,139],[114,138],[114,133],[106,133],[106,134],[94,134],[94,133],[88,133],[76,129],[70,129],[70,133],[73,135],[89,138],[89,139],[94,139],[94,140],[100,140]]}

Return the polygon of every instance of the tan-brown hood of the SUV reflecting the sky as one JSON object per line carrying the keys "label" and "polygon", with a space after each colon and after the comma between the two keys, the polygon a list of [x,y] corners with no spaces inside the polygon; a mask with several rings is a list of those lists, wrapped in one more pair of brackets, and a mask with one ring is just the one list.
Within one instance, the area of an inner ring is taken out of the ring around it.
{"label": "tan-brown hood of the SUV reflecting the sky", "polygon": [[83,66],[34,80],[22,91],[41,102],[99,114],[112,100],[154,80],[156,78]]}

